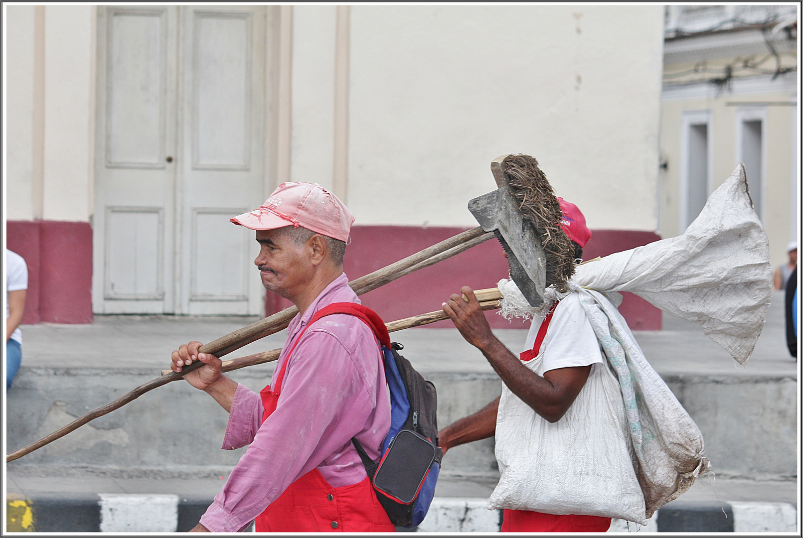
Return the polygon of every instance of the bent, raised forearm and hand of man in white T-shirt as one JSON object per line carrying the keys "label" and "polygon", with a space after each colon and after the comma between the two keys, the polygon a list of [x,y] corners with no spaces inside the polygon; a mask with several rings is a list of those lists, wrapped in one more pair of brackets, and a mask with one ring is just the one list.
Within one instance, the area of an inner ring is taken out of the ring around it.
{"label": "bent, raised forearm and hand of man in white T-shirt", "polygon": [[549,370],[544,377],[532,372],[491,332],[474,291],[468,286],[460,291],[468,300],[455,293],[443,311],[463,338],[483,352],[512,393],[548,422],[559,421],[585,385],[591,365]]}

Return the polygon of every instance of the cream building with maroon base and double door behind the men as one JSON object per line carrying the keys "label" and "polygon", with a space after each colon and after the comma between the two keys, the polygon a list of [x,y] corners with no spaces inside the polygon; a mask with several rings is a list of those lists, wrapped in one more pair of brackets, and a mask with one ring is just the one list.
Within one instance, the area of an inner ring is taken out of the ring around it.
{"label": "cream building with maroon base and double door behind the men", "polygon": [[[4,9],[7,238],[29,264],[29,323],[282,308],[264,298],[251,233],[228,223],[282,181],[318,182],[357,215],[352,278],[475,226],[467,201],[494,188],[503,153],[535,155],[585,212],[586,258],[682,231],[667,115],[687,108],[667,112],[665,72],[661,120],[663,6]],[[784,100],[794,76],[772,82]],[[794,108],[766,110],[786,115],[793,181]],[[711,188],[735,165],[723,155]],[[775,251],[793,226],[779,219]],[[489,242],[365,303],[397,319],[506,274]],[[660,327],[633,295],[622,312]]]}

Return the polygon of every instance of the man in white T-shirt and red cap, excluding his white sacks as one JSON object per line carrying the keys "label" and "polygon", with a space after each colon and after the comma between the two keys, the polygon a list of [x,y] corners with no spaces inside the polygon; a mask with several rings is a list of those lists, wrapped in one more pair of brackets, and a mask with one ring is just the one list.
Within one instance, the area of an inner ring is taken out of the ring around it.
{"label": "man in white T-shirt and red cap, excluding his white sacks", "polygon": [[[577,206],[563,198],[558,198],[558,201],[563,212],[560,227],[573,242],[575,258],[581,259],[582,247],[591,238],[591,230],[585,225],[585,217]],[[569,293],[556,302],[546,316],[532,320],[524,353],[516,357],[491,332],[471,288],[461,288],[461,294],[451,295],[450,300],[443,304],[443,310],[454,321],[463,338],[483,352],[512,393],[545,421],[559,422],[589,375],[603,364],[597,336],[578,295]],[[544,329],[548,328],[545,333],[540,330],[542,324]],[[524,366],[524,361],[532,360],[541,352],[543,377]],[[438,432],[444,454],[452,446],[493,436],[498,409],[499,397],[479,412]],[[609,517],[507,509],[503,518],[502,532],[605,532],[611,522]]]}

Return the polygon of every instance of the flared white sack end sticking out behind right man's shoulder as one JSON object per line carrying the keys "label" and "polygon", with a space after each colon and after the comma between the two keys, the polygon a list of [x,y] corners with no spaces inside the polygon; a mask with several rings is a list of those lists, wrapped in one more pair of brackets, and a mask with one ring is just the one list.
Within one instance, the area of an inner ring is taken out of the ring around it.
{"label": "flared white sack end sticking out behind right man's shoulder", "polygon": [[584,263],[573,280],[600,292],[632,291],[695,321],[744,365],[772,293],[767,234],[752,210],[744,165],[711,194],[683,235]]}

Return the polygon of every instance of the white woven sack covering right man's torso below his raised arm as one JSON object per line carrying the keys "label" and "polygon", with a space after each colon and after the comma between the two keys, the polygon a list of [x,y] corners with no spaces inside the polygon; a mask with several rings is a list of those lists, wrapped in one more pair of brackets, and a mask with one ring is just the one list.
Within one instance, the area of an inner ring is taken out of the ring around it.
{"label": "white woven sack covering right man's torso below his raised arm", "polygon": [[[544,353],[524,365],[543,375]],[[615,517],[646,524],[628,418],[616,377],[595,368],[563,418],[547,422],[502,384],[496,414],[499,483],[488,510]]]}

